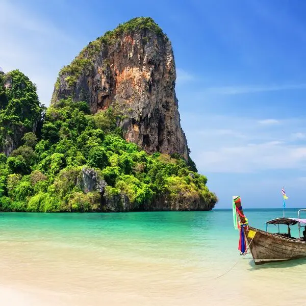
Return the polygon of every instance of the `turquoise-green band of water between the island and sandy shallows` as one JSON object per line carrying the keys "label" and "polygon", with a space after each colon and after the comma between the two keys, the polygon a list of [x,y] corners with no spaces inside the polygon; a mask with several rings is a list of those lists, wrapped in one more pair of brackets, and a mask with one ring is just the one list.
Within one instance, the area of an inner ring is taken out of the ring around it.
{"label": "turquoise-green band of water between the island and sandy shallows", "polygon": [[[286,210],[286,216],[297,217],[297,211]],[[246,209],[245,215],[250,225],[266,230],[265,222],[282,217],[283,210]],[[274,228],[277,229],[270,225],[269,230],[273,232]],[[285,225],[281,225],[281,228],[287,231]],[[205,254],[208,246],[220,250],[224,249],[225,244],[227,251],[232,252],[236,250],[238,240],[231,210],[111,214],[2,213],[0,232],[0,241],[41,241],[43,238],[45,242],[64,243],[67,246],[80,244],[86,248],[100,246],[101,241],[116,247],[117,243],[124,241],[126,247],[134,252],[167,247],[169,252],[172,250],[182,259],[189,251]],[[292,235],[298,235],[297,226],[292,226]]]}

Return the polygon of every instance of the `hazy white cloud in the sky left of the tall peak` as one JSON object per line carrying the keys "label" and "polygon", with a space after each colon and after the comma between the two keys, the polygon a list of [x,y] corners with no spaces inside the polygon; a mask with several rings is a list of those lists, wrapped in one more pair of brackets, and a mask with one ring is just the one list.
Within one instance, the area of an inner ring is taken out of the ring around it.
{"label": "hazy white cloud in the sky left of the tall peak", "polygon": [[48,105],[59,70],[78,52],[76,40],[22,2],[0,0],[0,11],[0,66],[27,75]]}

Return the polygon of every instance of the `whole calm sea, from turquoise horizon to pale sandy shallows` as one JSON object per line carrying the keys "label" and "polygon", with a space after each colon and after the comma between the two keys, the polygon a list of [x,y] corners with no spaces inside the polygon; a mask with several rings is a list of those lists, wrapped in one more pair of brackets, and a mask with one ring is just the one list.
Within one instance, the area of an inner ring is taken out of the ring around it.
{"label": "whole calm sea, from turquoise horizon to pale sandy shallows", "polygon": [[[265,230],[283,211],[245,215]],[[231,210],[2,213],[1,305],[304,304],[306,260],[255,266],[238,240]]]}

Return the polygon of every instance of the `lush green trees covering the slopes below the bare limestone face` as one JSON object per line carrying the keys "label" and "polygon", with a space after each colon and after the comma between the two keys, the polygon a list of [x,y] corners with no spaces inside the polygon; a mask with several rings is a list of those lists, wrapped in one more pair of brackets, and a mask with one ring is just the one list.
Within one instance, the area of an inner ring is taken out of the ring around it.
{"label": "lush green trees covering the slopes below the bare limestone face", "polygon": [[[19,78],[12,84],[29,82],[19,73],[8,74]],[[34,85],[32,91],[28,85],[4,90],[3,79],[0,82],[3,137],[8,117],[30,127],[41,108]],[[24,109],[31,111],[25,114]],[[22,144],[9,156],[0,154],[0,210],[111,211],[115,203],[113,210],[123,211],[124,202],[129,203],[129,210],[142,210],[157,199],[214,206],[217,198],[208,190],[205,176],[192,171],[178,156],[148,155],[126,142],[116,127],[118,119],[115,109],[90,115],[82,101],[60,100],[49,107],[36,135],[27,130]],[[84,171],[93,173],[104,187],[87,190]]]}

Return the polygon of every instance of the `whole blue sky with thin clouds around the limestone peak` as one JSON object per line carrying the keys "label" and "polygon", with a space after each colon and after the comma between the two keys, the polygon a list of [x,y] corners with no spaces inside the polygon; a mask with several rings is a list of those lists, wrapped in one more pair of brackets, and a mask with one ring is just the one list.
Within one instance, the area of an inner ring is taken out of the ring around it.
{"label": "whole blue sky with thin clouds around the limestone peak", "polygon": [[306,207],[306,2],[0,0],[0,66],[49,104],[58,71],[105,31],[150,16],[172,42],[191,157],[219,208]]}

